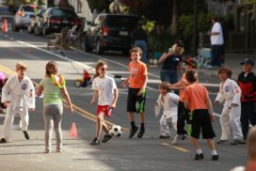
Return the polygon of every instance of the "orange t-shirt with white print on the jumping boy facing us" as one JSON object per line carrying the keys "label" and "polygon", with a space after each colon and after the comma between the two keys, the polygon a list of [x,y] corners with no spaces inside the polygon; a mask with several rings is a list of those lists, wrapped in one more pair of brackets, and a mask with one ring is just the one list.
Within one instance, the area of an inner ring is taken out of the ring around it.
{"label": "orange t-shirt with white print on the jumping boy facing us", "polygon": [[143,62],[134,62],[129,63],[130,71],[130,87],[131,88],[141,88],[145,82],[145,75],[148,74],[146,65]]}

